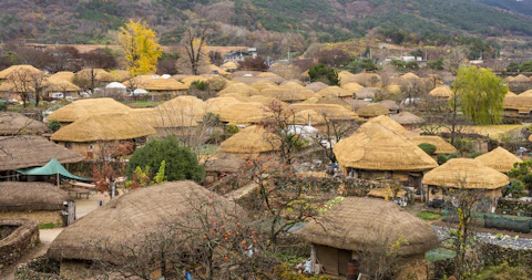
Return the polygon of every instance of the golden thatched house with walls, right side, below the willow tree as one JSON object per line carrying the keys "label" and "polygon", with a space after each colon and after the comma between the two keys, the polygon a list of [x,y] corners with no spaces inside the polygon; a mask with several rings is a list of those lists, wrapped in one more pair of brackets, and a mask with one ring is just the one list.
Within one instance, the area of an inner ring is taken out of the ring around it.
{"label": "golden thatched house with walls, right side, below the willow tree", "polygon": [[[485,203],[497,205],[502,196],[501,188],[510,183],[507,175],[483,165],[473,158],[452,158],[428,172],[423,177],[428,186],[428,199],[452,199],[450,188],[477,189],[485,197]],[[487,209],[484,209],[487,210]]]}

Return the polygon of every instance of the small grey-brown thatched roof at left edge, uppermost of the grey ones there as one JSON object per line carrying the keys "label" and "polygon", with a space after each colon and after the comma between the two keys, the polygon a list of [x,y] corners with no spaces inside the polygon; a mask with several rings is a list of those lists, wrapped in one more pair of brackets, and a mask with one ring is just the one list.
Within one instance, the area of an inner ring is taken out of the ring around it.
{"label": "small grey-brown thatched roof at left edge, uppermost of the grey ones there", "polygon": [[19,113],[0,112],[0,135],[41,134],[47,126]]}

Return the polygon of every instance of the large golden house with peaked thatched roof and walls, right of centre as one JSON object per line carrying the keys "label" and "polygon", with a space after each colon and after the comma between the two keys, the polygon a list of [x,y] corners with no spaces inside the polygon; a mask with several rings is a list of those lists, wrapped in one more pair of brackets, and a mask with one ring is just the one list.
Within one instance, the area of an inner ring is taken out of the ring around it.
{"label": "large golden house with peaked thatched roof and walls, right of centre", "polygon": [[421,187],[422,174],[438,166],[421,148],[379,122],[360,126],[338,142],[334,153],[348,176],[393,178],[416,188]]}

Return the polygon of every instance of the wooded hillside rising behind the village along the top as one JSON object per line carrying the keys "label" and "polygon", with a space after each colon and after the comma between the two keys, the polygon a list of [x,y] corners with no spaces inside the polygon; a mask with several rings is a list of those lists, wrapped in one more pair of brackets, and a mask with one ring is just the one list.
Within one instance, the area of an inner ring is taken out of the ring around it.
{"label": "wooded hillside rising behind the village along the top", "polygon": [[370,31],[396,43],[444,44],[462,34],[532,37],[532,19],[522,14],[532,13],[531,1],[1,0],[0,38],[105,44],[114,40],[111,31],[133,18],[146,21],[163,44],[178,42],[186,25],[201,21],[213,23],[212,44],[258,45],[272,53]]}

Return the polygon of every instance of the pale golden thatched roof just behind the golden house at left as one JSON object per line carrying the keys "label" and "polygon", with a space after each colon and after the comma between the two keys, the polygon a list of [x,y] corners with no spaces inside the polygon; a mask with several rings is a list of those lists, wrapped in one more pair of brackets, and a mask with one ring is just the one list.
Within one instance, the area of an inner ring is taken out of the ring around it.
{"label": "pale golden thatched roof just behind the golden house at left", "polygon": [[48,120],[58,120],[61,123],[72,123],[79,118],[104,114],[127,113],[132,108],[113,98],[79,100],[50,114]]}

